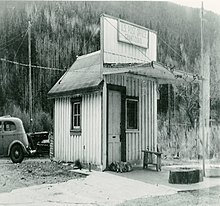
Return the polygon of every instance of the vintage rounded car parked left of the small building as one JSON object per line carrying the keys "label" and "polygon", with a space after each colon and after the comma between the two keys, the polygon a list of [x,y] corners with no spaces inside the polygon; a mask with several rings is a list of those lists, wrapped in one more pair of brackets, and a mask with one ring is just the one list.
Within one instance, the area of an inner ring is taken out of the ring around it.
{"label": "vintage rounded car parked left of the small building", "polygon": [[48,139],[48,132],[26,134],[19,118],[0,117],[0,156],[9,156],[13,163],[21,163],[25,155],[33,155],[40,141]]}

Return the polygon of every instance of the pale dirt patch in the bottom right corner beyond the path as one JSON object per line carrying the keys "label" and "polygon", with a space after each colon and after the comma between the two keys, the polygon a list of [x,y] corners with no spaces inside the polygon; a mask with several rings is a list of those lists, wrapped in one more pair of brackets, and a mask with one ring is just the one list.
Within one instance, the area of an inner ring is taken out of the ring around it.
{"label": "pale dirt patch in the bottom right corner beyond the path", "polygon": [[126,201],[118,206],[209,206],[220,205],[220,186],[188,192],[179,192],[174,195],[151,197]]}

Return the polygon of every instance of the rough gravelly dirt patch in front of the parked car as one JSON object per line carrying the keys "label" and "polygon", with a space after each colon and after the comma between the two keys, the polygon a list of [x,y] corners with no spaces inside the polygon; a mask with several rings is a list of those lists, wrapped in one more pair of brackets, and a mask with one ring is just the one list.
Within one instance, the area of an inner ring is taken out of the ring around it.
{"label": "rough gravelly dirt patch in front of the parked car", "polygon": [[71,172],[73,165],[51,162],[48,158],[25,159],[13,164],[0,158],[0,193],[40,184],[66,182],[85,176]]}

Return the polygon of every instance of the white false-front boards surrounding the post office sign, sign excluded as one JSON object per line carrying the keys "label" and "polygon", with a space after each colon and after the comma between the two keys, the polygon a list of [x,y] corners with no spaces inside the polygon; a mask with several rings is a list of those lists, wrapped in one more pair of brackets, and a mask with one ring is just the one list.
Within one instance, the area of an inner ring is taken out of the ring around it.
{"label": "white false-front boards surrounding the post office sign, sign excluded", "polygon": [[104,17],[104,63],[138,63],[157,60],[157,35],[149,30],[149,48],[118,41],[117,19]]}

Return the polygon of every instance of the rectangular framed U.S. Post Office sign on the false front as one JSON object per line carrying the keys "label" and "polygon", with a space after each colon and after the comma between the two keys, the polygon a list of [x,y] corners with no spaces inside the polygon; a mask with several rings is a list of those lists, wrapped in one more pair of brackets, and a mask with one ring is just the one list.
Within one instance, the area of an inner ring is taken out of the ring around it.
{"label": "rectangular framed U.S. Post Office sign on the false front", "polygon": [[134,24],[118,20],[118,41],[148,48],[149,31]]}

